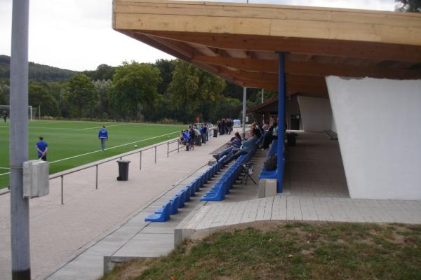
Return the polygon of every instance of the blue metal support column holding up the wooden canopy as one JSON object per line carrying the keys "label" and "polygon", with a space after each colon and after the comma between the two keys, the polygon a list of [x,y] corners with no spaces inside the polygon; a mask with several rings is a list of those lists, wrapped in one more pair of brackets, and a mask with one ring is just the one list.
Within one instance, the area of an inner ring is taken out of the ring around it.
{"label": "blue metal support column holding up the wooden canopy", "polygon": [[285,53],[279,52],[279,77],[278,77],[278,162],[277,162],[277,188],[276,193],[283,192],[283,144],[285,137]]}

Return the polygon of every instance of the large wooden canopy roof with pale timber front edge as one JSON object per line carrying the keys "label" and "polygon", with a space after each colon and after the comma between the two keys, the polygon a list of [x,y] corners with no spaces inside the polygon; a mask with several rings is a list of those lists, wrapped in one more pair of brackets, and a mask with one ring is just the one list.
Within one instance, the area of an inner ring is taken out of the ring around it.
{"label": "large wooden canopy roof with pale timber front edge", "polygon": [[327,94],[325,76],[421,78],[421,14],[114,0],[112,27],[241,86]]}

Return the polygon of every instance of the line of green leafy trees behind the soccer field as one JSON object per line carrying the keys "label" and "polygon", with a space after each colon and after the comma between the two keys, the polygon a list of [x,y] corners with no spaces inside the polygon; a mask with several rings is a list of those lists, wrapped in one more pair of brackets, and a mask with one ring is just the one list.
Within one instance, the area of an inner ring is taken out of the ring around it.
{"label": "line of green leafy trees behind the soccer field", "polygon": [[[0,104],[8,104],[9,90],[8,78],[1,78]],[[29,105],[52,118],[192,123],[199,116],[215,122],[239,118],[242,97],[242,87],[179,59],[101,64],[63,80],[29,80]],[[260,100],[258,89],[248,89],[248,106]]]}

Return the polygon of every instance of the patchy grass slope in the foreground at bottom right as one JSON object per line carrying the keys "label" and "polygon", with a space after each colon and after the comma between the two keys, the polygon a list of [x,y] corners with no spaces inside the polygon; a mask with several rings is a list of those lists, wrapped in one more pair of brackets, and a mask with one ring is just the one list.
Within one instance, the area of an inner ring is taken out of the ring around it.
{"label": "patchy grass slope in the foreground at bottom right", "polygon": [[119,265],[101,279],[421,279],[421,225],[253,226]]}

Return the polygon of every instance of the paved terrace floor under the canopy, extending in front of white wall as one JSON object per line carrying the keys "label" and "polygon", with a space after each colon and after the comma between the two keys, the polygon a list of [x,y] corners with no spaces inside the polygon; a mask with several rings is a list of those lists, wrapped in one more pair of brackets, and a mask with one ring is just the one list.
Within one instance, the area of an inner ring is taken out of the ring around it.
{"label": "paved terrace floor under the canopy, extending in front of white wall", "polygon": [[[257,192],[241,192],[235,186],[224,201],[208,202],[189,215],[176,229],[178,239],[201,238],[255,221],[421,223],[420,200],[349,198],[338,141],[324,133],[298,133],[297,146],[286,150],[283,193],[257,199]],[[255,154],[253,176],[260,172],[265,153]]]}

